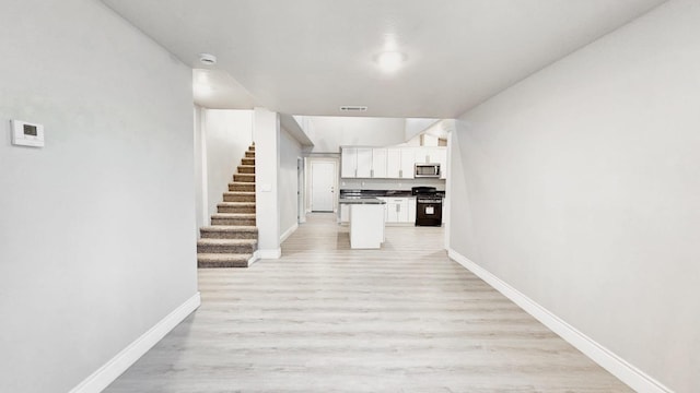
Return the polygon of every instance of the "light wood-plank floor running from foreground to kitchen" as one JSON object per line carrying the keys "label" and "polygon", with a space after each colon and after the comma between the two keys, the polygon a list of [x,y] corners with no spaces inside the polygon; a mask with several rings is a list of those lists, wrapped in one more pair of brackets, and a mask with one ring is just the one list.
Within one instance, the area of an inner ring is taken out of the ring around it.
{"label": "light wood-plank floor running from foreground to kitchen", "polygon": [[199,271],[201,307],[106,392],[629,392],[474,274],[442,228],[350,250],[313,214],[282,258]]}

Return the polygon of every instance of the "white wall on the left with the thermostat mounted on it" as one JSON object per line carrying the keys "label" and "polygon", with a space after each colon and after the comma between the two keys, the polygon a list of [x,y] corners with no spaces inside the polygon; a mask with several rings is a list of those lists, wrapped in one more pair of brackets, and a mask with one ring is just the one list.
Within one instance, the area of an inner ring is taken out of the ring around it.
{"label": "white wall on the left with the thermostat mounted on it", "polygon": [[98,1],[0,25],[0,391],[68,392],[197,294],[191,71]]}

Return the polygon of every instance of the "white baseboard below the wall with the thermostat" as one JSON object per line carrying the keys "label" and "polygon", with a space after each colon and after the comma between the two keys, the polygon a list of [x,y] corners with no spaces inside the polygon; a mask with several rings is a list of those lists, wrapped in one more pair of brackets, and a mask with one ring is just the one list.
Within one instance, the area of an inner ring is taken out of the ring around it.
{"label": "white baseboard below the wall with the thermostat", "polygon": [[129,344],[114,358],[102,366],[97,371],[83,380],[70,393],[97,393],[102,392],[114,382],[124,371],[131,367],[143,354],[149,352],[170,331],[180,323],[187,315],[195,311],[201,303],[199,293],[187,299],[173,312],[163,318],[159,323],[143,333],[139,338]]}

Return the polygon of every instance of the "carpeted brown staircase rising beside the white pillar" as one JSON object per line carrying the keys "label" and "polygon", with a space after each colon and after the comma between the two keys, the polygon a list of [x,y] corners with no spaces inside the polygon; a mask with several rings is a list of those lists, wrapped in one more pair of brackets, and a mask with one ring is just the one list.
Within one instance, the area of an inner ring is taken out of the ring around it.
{"label": "carpeted brown staircase rising beside the white pillar", "polygon": [[198,267],[248,267],[258,248],[255,226],[255,143],[241,159],[211,226],[200,229]]}

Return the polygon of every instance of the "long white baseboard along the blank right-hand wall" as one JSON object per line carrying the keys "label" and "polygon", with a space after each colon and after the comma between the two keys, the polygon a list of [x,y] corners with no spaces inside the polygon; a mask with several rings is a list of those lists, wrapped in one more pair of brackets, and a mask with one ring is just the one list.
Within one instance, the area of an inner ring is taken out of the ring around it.
{"label": "long white baseboard along the blank right-hand wall", "polygon": [[529,297],[525,296],[517,289],[510,286],[489,271],[470,261],[453,249],[447,250],[451,259],[476,274],[479,278],[487,282],[495,290],[503,294],[514,303],[521,307],[530,315],[535,317],[545,326],[557,333],[569,344],[584,353],[593,361],[608,370],[611,374],[627,383],[630,388],[641,393],[670,393],[672,390],[664,386],[642,370],[630,365],[627,360],[615,355],[612,352],[593,341],[591,337],[578,331],[575,327],[547,310]]}

